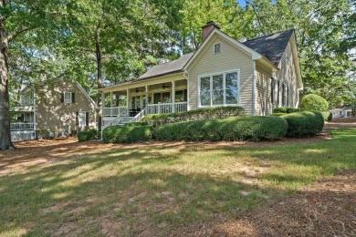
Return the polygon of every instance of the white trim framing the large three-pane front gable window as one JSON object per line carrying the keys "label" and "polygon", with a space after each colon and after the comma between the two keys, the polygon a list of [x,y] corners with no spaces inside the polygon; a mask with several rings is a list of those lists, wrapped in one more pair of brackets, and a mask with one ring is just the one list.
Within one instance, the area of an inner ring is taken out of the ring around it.
{"label": "white trim framing the large three-pane front gable window", "polygon": [[[226,104],[226,85],[225,85],[225,77],[227,73],[237,72],[237,104]],[[224,90],[224,104],[222,105],[213,105],[213,96],[212,96],[212,88],[213,88],[213,76],[223,75],[223,90]],[[200,82],[202,77],[210,77],[210,106],[202,106],[200,101]],[[198,108],[213,108],[213,107],[221,107],[221,106],[240,106],[240,68],[235,70],[228,70],[224,72],[218,72],[214,74],[205,74],[198,77]]]}

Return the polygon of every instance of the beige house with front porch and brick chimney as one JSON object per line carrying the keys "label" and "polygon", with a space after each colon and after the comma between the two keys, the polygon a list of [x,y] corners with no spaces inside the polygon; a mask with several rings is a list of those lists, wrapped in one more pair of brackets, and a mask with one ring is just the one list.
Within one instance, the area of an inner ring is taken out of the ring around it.
{"label": "beige house with front porch and brick chimney", "polygon": [[100,89],[103,127],[216,106],[240,106],[260,116],[273,108],[298,108],[303,84],[294,29],[243,42],[208,22],[202,36],[194,53]]}

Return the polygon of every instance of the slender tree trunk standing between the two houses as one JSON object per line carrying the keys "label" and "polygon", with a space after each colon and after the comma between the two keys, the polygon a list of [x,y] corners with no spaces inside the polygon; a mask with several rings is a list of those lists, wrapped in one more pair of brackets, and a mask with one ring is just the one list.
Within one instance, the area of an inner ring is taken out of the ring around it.
{"label": "slender tree trunk standing between the two houses", "polygon": [[[97,59],[97,86],[98,89],[102,88],[102,64],[101,64],[101,51],[100,51],[100,45],[99,45],[99,36],[98,36],[98,31],[95,31],[94,33],[94,39],[95,39],[95,56]],[[98,92],[98,129],[101,131],[101,92]]]}

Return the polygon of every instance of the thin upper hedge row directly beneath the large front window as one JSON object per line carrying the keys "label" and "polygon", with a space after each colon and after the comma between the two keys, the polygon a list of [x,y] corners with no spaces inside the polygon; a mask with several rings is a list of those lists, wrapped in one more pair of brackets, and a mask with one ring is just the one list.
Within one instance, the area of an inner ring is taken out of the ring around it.
{"label": "thin upper hedge row directly beneath the large front window", "polygon": [[159,125],[175,123],[175,122],[199,120],[199,119],[211,119],[211,118],[228,118],[232,116],[244,116],[245,114],[246,114],[245,108],[236,107],[236,106],[199,108],[199,109],[189,110],[180,113],[148,115],[142,118],[142,122],[146,122],[156,127]]}

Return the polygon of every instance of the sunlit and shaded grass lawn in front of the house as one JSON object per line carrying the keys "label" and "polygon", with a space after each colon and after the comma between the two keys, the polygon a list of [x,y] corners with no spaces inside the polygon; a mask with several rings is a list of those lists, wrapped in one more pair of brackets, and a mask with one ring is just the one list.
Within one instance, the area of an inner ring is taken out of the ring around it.
{"label": "sunlit and shaded grass lawn in front of the house", "polygon": [[0,235],[167,234],[356,168],[356,129],[314,144],[110,149],[0,176]]}

